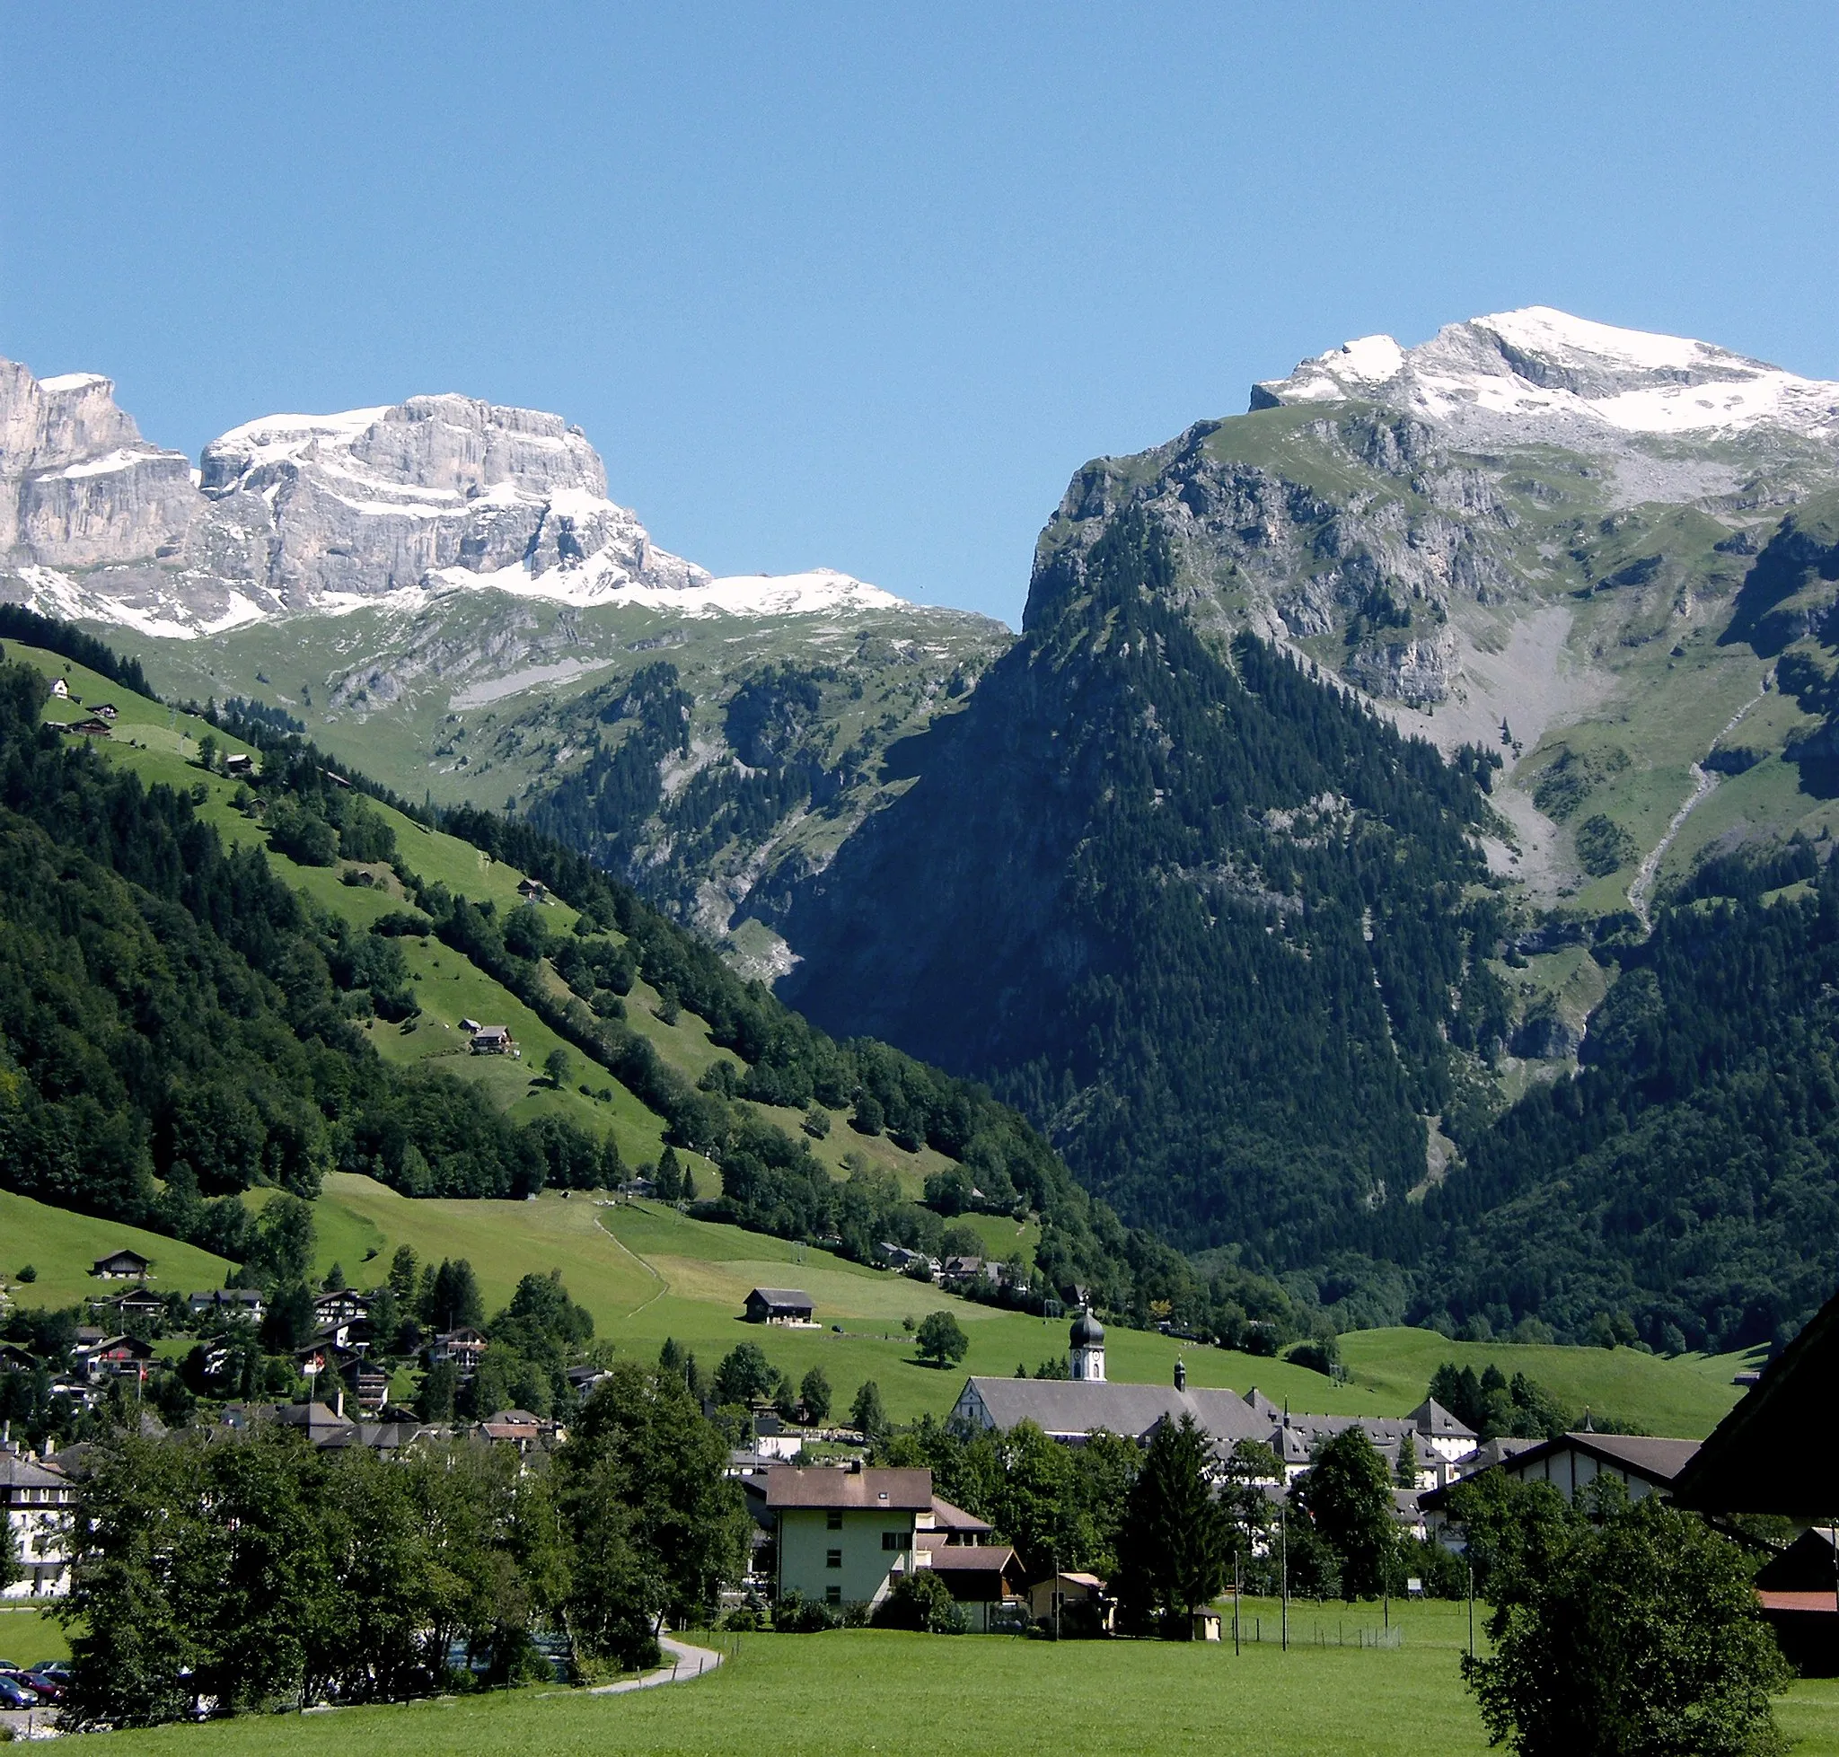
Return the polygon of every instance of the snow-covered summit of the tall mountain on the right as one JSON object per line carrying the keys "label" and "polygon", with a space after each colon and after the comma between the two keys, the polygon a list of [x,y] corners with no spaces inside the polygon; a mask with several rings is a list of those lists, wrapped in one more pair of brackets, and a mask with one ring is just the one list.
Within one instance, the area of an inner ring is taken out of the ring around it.
{"label": "snow-covered summit of the tall mountain on the right", "polygon": [[1438,425],[1506,423],[1521,437],[1718,437],[1773,426],[1839,441],[1839,384],[1708,342],[1616,329],[1548,305],[1449,323],[1418,347],[1361,336],[1252,388],[1252,408],[1370,401]]}

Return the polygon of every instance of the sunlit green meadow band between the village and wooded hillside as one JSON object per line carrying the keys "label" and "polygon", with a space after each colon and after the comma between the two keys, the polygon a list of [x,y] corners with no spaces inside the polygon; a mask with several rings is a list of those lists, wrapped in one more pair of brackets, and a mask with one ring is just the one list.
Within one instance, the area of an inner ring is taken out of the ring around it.
{"label": "sunlit green meadow band between the village and wooded hillside", "polygon": [[[254,1191],[250,1200],[261,1206],[263,1193]],[[864,1378],[874,1378],[896,1421],[927,1411],[943,1415],[965,1373],[1008,1377],[1017,1366],[1034,1371],[1067,1347],[1061,1320],[1000,1312],[921,1281],[783,1239],[690,1220],[649,1202],[600,1206],[585,1193],[557,1191],[530,1202],[416,1202],[371,1178],[335,1173],[314,1215],[318,1274],[338,1263],[351,1285],[371,1287],[383,1279],[395,1248],[408,1244],[423,1259],[465,1257],[487,1309],[497,1310],[520,1275],[559,1268],[574,1298],[594,1314],[598,1334],[622,1351],[651,1358],[666,1336],[675,1336],[714,1366],[737,1342],[758,1342],[794,1378],[822,1366],[844,1404]],[[1013,1237],[1013,1222],[982,1224],[991,1235]],[[0,1266],[7,1275],[24,1263],[39,1270],[35,1283],[13,1288],[13,1298],[28,1305],[68,1305],[97,1292],[103,1283],[90,1279],[88,1266],[120,1244],[154,1259],[151,1281],[162,1288],[221,1287],[228,1270],[219,1257],[173,1239],[6,1193],[0,1193],[0,1237],[18,1259]],[[741,1321],[748,1288],[787,1285],[811,1294],[820,1329],[763,1331]],[[903,1323],[918,1323],[940,1309],[958,1316],[971,1342],[964,1366],[949,1373],[914,1356]],[[1293,1410],[1330,1415],[1399,1415],[1423,1397],[1444,1360],[1477,1371],[1495,1362],[1508,1375],[1528,1373],[1576,1408],[1587,1406],[1644,1432],[1699,1437],[1736,1402],[1730,1377],[1745,1364],[1745,1356],[1734,1355],[1661,1360],[1629,1349],[1445,1342],[1414,1329],[1357,1331],[1342,1338],[1341,1349],[1348,1380],[1331,1384],[1284,1360],[1184,1345],[1113,1325],[1107,1371],[1114,1380],[1166,1384],[1179,1356],[1195,1386],[1236,1391],[1256,1386]]]}

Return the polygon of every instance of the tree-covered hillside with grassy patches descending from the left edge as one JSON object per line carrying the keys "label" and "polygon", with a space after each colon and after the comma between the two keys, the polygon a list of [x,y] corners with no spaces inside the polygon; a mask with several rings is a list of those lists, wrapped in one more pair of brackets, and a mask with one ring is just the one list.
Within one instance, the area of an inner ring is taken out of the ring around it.
{"label": "tree-covered hillside with grassy patches descending from the left edge", "polygon": [[[719,1163],[712,1215],[862,1259],[886,1237],[936,1242],[958,1207],[1028,1209],[1035,1296],[1078,1279],[1144,1316],[1153,1299],[1195,1318],[1223,1305],[1239,1325],[1249,1309],[1291,1316],[1269,1283],[1208,1285],[1127,1233],[986,1092],[813,1031],[531,827],[462,810],[434,833],[261,719],[191,722],[188,741],[177,713],[169,728],[167,711],[121,693],[116,735],[75,739],[40,724],[44,649],[107,654],[57,625],[13,632],[40,641],[39,669],[0,667],[0,1163],[13,1187],[241,1257],[241,1191],[311,1195],[335,1167],[406,1195],[612,1182],[622,1162],[598,1108],[611,1086],[596,1099],[583,1084],[570,1110],[552,1075],[557,1105],[515,1121],[480,1081],[403,1060],[417,981],[447,959],[636,1095],[669,1141]],[[224,750],[259,763],[226,777]],[[565,904],[519,904],[524,873]],[[701,1081],[629,1015],[636,983],[726,1051],[704,1055]],[[853,1106],[864,1145],[931,1151],[951,1174],[931,1207],[868,1156],[839,1180],[804,1130],[774,1119],[787,1106]]]}

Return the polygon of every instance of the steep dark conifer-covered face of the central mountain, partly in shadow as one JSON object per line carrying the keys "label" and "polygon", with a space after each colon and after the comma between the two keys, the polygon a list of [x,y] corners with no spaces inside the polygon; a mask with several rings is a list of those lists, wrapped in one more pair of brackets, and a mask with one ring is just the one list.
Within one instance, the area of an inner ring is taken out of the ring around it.
{"label": "steep dark conifer-covered face of the central mountain, partly in shadow", "polygon": [[1488,766],[1217,651],[1171,584],[1138,516],[1037,573],[1024,640],[798,893],[782,992],[991,1079],[1129,1219],[1298,1263],[1423,1180],[1423,1117],[1506,1031]]}

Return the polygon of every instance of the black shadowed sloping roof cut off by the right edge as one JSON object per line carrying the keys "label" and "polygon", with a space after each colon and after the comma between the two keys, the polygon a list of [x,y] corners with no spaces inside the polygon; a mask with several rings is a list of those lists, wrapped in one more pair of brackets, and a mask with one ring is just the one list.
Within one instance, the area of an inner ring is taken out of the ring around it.
{"label": "black shadowed sloping roof cut off by the right edge", "polygon": [[[1681,1507],[1701,1513],[1780,1513],[1830,1518],[1839,1410],[1839,1296],[1764,1367],[1743,1400],[1712,1428],[1673,1485]],[[1767,1459],[1767,1468],[1758,1468]]]}

